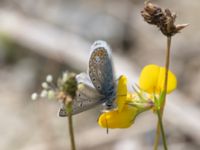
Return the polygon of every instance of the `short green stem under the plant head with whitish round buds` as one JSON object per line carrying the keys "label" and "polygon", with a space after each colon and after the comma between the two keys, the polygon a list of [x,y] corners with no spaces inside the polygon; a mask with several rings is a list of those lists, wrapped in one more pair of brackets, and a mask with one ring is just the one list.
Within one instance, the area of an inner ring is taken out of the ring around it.
{"label": "short green stem under the plant head with whitish round buds", "polygon": [[68,127],[69,127],[69,135],[71,142],[71,150],[76,150],[75,139],[74,139],[74,130],[73,130],[73,122],[72,122],[72,113],[71,113],[71,102],[68,103]]}

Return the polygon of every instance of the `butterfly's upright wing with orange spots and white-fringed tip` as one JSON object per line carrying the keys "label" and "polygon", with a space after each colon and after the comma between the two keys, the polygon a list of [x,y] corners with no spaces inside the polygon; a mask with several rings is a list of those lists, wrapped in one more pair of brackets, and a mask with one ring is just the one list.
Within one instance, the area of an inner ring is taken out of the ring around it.
{"label": "butterfly's upright wing with orange spots and white-fringed tip", "polygon": [[116,97],[111,49],[104,41],[96,41],[91,47],[89,76],[97,91],[107,98],[111,106]]}

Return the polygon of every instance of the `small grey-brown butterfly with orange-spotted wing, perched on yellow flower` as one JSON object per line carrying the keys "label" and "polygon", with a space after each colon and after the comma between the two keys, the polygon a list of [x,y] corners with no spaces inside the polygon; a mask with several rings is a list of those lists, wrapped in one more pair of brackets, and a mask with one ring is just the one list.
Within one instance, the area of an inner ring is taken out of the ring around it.
{"label": "small grey-brown butterfly with orange-spotted wing, perched on yellow flower", "polygon": [[[111,48],[105,41],[95,41],[91,46],[87,73],[76,76],[78,90],[72,101],[72,114],[78,114],[99,104],[106,109],[115,107],[116,85],[112,64]],[[59,116],[67,116],[63,103]]]}

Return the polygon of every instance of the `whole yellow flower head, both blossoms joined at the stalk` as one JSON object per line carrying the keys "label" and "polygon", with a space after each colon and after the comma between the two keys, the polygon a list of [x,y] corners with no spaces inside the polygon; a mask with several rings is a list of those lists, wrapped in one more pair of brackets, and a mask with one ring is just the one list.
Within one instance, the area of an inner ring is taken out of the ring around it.
{"label": "whole yellow flower head, both blossoms joined at the stalk", "polygon": [[[103,128],[128,128],[136,116],[154,107],[153,93],[161,94],[164,89],[165,68],[157,65],[147,65],[141,72],[139,87],[142,91],[131,94],[127,90],[127,78],[122,75],[118,80],[117,108],[103,112],[98,119],[98,124]],[[168,72],[167,93],[176,88],[176,76]],[[148,94],[145,94],[148,93]]]}

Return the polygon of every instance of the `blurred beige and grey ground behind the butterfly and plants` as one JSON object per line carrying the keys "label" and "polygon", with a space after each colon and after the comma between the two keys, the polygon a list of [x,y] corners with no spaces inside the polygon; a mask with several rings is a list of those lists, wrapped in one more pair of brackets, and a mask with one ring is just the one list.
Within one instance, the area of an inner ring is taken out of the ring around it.
{"label": "blurred beige and grey ground behind the butterfly and plants", "polygon": [[[172,39],[171,70],[178,88],[167,98],[169,149],[200,149],[199,0],[152,0],[190,26]],[[166,38],[143,21],[142,0],[0,0],[0,149],[70,149],[67,119],[55,101],[31,101],[47,74],[86,71],[90,46],[106,40],[116,77],[138,82],[143,66],[164,65]],[[128,129],[97,124],[100,108],[74,117],[79,150],[153,149],[156,116],[140,115]],[[160,149],[162,146],[160,145]]]}

